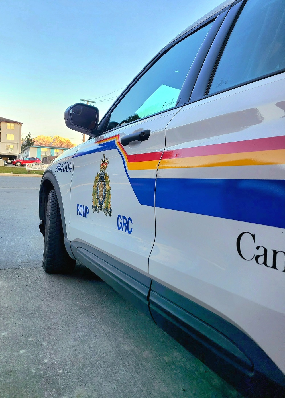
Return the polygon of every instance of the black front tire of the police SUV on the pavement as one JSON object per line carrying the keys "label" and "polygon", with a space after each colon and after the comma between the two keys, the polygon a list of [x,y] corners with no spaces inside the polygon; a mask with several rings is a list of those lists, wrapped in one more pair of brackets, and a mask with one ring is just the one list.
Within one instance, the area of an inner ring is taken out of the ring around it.
{"label": "black front tire of the police SUV on the pavement", "polygon": [[68,255],[64,246],[61,212],[57,194],[53,189],[47,198],[43,269],[47,273],[70,273],[74,269],[75,262],[76,260]]}

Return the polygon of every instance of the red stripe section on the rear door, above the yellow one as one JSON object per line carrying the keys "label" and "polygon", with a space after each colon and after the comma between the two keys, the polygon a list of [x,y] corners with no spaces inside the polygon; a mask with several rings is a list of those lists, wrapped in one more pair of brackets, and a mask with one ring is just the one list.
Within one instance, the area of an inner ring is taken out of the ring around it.
{"label": "red stripe section on the rear door, above the yellow one", "polygon": [[222,155],[227,153],[256,152],[262,150],[285,149],[285,136],[268,137],[255,140],[226,142],[195,146],[194,148],[182,148],[165,151],[162,159],[187,158],[192,156]]}

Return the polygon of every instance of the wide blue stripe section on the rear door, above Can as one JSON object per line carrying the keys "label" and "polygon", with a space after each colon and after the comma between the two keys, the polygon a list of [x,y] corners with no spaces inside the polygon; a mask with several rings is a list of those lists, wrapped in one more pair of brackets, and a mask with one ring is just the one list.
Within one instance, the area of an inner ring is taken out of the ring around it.
{"label": "wide blue stripe section on the rear door, above Can", "polygon": [[285,181],[158,178],[155,205],[285,228]]}

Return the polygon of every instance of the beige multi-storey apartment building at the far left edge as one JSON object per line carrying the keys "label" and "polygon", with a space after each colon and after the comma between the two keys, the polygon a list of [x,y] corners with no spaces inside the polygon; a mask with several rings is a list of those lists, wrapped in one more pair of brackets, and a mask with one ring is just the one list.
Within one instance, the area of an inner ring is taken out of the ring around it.
{"label": "beige multi-storey apartment building at the far left edge", "polygon": [[0,117],[0,157],[15,158],[21,152],[21,122]]}

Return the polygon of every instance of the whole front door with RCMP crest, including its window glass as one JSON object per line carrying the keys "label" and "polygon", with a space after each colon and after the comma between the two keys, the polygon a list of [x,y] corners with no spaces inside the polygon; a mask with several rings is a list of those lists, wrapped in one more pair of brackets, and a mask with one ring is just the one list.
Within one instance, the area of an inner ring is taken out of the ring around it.
{"label": "whole front door with RCMP crest, including its window glass", "polygon": [[169,46],[111,109],[105,132],[74,155],[70,240],[148,272],[165,128],[180,109],[180,90],[211,26]]}

